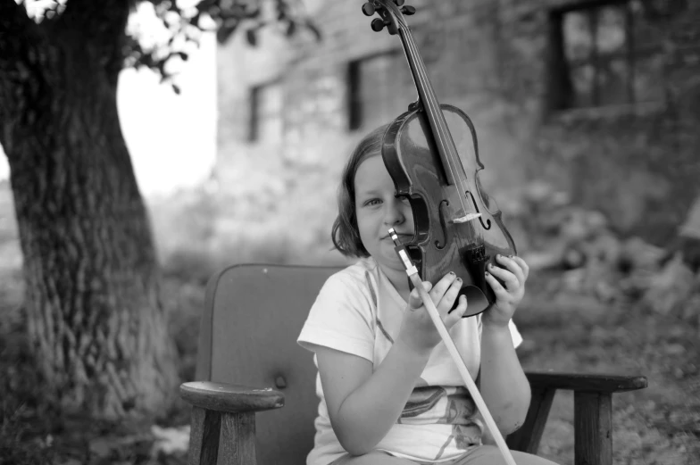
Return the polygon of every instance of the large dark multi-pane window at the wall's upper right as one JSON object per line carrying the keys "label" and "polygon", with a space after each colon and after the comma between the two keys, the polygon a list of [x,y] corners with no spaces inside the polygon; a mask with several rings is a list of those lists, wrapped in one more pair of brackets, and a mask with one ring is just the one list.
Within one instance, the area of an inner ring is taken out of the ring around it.
{"label": "large dark multi-pane window at the wall's upper right", "polygon": [[594,0],[551,13],[550,110],[662,99],[662,38],[643,12]]}

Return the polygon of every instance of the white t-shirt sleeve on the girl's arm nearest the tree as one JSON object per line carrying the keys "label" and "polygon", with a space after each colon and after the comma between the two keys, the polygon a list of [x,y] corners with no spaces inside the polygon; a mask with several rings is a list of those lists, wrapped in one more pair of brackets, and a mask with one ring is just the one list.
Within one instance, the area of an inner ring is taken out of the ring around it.
{"label": "white t-shirt sleeve on the girl's arm nearest the tree", "polygon": [[321,345],[372,361],[374,312],[369,288],[337,273],[321,287],[296,342],[312,352]]}

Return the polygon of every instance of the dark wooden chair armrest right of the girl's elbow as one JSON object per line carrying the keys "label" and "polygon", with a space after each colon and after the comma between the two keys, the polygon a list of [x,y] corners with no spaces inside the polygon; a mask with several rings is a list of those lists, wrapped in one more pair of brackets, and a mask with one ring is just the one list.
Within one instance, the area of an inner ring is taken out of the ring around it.
{"label": "dark wooden chair armrest right of the girl's elbow", "polygon": [[574,392],[619,393],[647,386],[646,377],[526,371],[530,386],[541,389],[567,389]]}

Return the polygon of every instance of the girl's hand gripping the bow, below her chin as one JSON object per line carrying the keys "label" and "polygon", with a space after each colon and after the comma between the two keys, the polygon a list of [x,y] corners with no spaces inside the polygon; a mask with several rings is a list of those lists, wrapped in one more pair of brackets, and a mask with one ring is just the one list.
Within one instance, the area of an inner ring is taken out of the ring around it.
{"label": "girl's hand gripping the bow, below her chin", "polygon": [[[457,308],[449,314],[447,313],[454,305],[454,299],[457,298],[462,288],[462,279],[450,272],[437,281],[435,286],[432,286],[429,281],[423,281],[423,286],[429,291],[428,295],[435,303],[437,312],[449,330],[462,319],[464,312],[467,311],[467,298],[461,295]],[[404,311],[404,320],[401,323],[398,340],[416,353],[421,354],[430,353],[441,341],[433,320],[430,320],[428,309],[423,306],[421,296],[415,288],[408,298],[408,308]]]}

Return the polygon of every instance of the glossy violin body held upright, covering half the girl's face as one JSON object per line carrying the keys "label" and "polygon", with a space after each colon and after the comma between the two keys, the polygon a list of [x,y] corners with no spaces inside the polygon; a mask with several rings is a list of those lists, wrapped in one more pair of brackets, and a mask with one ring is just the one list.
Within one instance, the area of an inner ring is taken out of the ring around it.
{"label": "glossy violin body held upright, covering half the girl's face", "polygon": [[[472,316],[496,301],[484,278],[488,263],[499,266],[496,254],[516,254],[515,244],[501,220],[496,203],[482,189],[476,131],[458,108],[442,104],[454,147],[458,170],[467,183],[450,184],[425,112],[404,112],[384,135],[382,158],[394,180],[396,196],[407,197],[412,207],[415,235],[405,244],[423,280],[435,283],[449,271],[462,278],[462,291]],[[462,192],[462,189],[464,189]],[[463,206],[480,217],[460,222]],[[455,306],[456,306],[455,302]]]}

